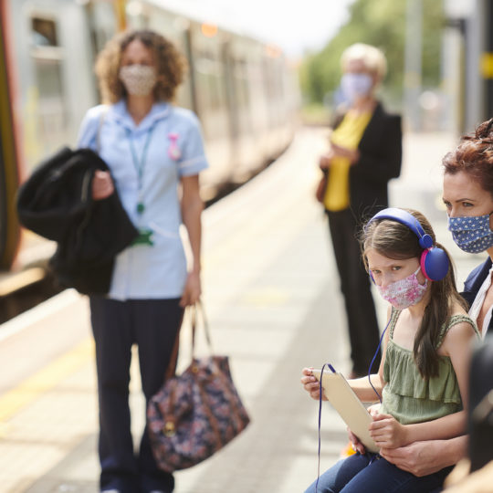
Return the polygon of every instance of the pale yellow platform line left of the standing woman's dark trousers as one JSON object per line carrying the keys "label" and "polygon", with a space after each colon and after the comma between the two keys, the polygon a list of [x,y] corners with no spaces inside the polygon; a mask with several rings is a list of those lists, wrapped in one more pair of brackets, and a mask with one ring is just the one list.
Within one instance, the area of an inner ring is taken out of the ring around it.
{"label": "pale yellow platform line left of the standing woman's dark trousers", "polygon": [[64,353],[42,370],[27,378],[16,388],[0,396],[0,424],[9,420],[17,411],[33,402],[37,397],[53,389],[70,374],[77,372],[89,362],[94,354],[94,341],[82,341],[71,351]]}

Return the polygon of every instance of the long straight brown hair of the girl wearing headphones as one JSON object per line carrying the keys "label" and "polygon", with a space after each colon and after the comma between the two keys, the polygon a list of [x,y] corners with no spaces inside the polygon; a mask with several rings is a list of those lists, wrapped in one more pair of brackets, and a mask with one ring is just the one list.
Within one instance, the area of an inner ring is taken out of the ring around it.
{"label": "long straight brown hair of the girl wearing headphones", "polygon": [[[435,233],[432,226],[421,213],[413,209],[404,209],[414,215],[425,233],[433,238],[436,247],[442,248],[436,243]],[[375,250],[384,257],[404,260],[407,258],[420,258],[423,248],[419,245],[419,238],[408,226],[393,221],[392,219],[375,219],[371,221],[362,231],[362,258],[367,270],[367,252]],[[452,259],[448,252],[446,255],[450,262],[450,268],[446,277],[439,281],[431,282],[429,301],[425,307],[425,313],[421,325],[414,336],[414,362],[425,378],[431,378],[438,374],[437,347],[439,336],[444,324],[448,322],[452,315],[454,302],[459,303],[467,309],[467,303],[458,294],[456,289],[456,276]]]}

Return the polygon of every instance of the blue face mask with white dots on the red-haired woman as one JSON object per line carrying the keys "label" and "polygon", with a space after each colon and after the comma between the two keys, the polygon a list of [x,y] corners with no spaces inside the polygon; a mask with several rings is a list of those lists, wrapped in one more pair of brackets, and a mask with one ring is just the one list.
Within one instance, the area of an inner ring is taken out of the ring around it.
{"label": "blue face mask with white dots on the red-haired woman", "polygon": [[490,214],[449,217],[448,231],[452,233],[456,246],[467,253],[484,252],[493,247],[489,216]]}

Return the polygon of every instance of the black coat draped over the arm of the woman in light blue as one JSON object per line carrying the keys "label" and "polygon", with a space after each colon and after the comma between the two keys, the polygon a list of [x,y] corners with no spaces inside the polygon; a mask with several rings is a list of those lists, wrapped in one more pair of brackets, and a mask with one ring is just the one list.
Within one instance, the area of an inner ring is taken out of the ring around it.
{"label": "black coat draped over the arm of the woman in light blue", "polygon": [[116,191],[92,199],[96,170],[109,171],[98,154],[65,147],[39,164],[17,195],[20,223],[58,242],[49,262],[58,282],[85,294],[109,291],[114,257],[138,235]]}

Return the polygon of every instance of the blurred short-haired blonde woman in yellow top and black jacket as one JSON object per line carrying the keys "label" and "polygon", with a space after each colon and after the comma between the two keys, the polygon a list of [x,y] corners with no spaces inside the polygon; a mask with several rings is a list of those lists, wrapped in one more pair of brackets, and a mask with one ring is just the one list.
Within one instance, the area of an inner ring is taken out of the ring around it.
{"label": "blurred short-haired blonde woman in yellow top and black jacket", "polygon": [[[401,173],[401,117],[383,110],[375,90],[386,73],[381,50],[357,43],[341,56],[341,89],[348,101],[338,111],[319,199],[329,218],[330,238],[341,278],[351,341],[351,378],[369,372],[379,330],[370,281],[357,240],[364,219],[388,206],[387,184]],[[378,368],[377,355],[373,368]]]}

